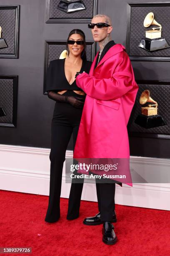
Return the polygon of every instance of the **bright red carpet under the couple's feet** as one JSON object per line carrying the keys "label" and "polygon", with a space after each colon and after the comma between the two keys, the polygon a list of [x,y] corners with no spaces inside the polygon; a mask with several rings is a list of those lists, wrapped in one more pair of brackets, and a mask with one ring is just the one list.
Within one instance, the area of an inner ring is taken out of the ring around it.
{"label": "bright red carpet under the couple's feet", "polygon": [[47,202],[47,196],[0,191],[0,247],[32,247],[32,254],[3,255],[170,255],[168,211],[116,205],[118,241],[107,246],[102,243],[102,225],[82,224],[83,218],[97,213],[97,203],[82,201],[80,217],[69,221],[68,200],[61,198],[60,220],[46,223]]}

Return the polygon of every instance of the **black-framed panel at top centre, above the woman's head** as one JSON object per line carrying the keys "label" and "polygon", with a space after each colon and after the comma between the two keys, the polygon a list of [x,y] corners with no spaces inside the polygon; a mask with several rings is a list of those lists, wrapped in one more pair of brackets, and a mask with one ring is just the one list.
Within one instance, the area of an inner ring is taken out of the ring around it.
{"label": "black-framed panel at top centre, above the woman's head", "polygon": [[89,23],[97,0],[47,0],[46,23]]}

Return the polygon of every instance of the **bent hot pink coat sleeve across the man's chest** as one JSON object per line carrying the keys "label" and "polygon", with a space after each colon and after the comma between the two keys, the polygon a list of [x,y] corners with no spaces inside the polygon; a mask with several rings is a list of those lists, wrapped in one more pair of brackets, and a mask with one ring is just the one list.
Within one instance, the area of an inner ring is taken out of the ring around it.
{"label": "bent hot pink coat sleeve across the man's chest", "polygon": [[77,76],[76,84],[87,95],[98,100],[113,100],[126,94],[133,88],[134,74],[128,54],[122,51],[114,56],[116,68],[110,78],[97,79],[82,73]]}

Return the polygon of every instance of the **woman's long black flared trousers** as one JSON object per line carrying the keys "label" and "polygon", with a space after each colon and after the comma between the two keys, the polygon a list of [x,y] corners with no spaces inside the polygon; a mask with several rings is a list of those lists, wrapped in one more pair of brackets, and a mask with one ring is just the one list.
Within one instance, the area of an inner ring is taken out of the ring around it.
{"label": "woman's long black flared trousers", "polygon": [[[85,97],[69,90],[64,95]],[[47,222],[55,222],[60,218],[60,194],[65,153],[72,134],[73,146],[75,146],[81,115],[82,108],[75,108],[65,102],[55,103],[51,131],[50,194],[45,217]],[[77,218],[79,215],[82,187],[83,181],[81,184],[71,186],[68,219]]]}

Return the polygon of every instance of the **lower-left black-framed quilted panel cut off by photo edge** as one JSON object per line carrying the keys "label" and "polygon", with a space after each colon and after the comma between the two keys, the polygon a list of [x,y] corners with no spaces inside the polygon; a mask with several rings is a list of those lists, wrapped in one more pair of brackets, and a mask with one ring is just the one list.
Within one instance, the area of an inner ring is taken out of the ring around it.
{"label": "lower-left black-framed quilted panel cut off by photo edge", "polygon": [[0,126],[16,128],[18,76],[0,76]]}

